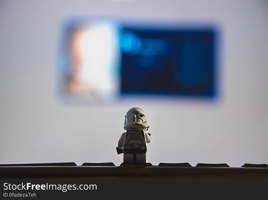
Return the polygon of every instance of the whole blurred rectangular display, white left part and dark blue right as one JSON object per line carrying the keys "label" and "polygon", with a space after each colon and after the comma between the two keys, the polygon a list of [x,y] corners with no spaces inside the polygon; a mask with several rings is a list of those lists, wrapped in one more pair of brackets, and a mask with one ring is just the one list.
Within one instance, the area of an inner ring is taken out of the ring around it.
{"label": "whole blurred rectangular display, white left part and dark blue right", "polygon": [[86,102],[129,95],[213,98],[216,39],[213,26],[68,21],[60,44],[60,94]]}

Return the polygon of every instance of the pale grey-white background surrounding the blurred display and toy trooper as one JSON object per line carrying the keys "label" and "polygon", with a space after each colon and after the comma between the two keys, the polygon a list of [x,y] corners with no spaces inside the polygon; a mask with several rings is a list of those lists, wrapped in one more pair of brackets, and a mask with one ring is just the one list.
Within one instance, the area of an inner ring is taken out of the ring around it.
{"label": "pale grey-white background surrounding the blurred display and toy trooper", "polygon": [[[0,163],[114,162],[124,115],[141,107],[147,161],[268,163],[267,1],[1,1]],[[224,30],[214,103],[69,105],[56,96],[59,30],[70,15],[209,20]]]}

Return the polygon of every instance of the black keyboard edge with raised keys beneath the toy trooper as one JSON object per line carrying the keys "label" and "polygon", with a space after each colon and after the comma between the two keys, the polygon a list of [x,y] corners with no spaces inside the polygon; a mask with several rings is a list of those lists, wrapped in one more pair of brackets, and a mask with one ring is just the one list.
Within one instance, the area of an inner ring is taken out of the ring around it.
{"label": "black keyboard edge with raised keys beneath the toy trooper", "polygon": [[37,163],[1,164],[0,178],[42,178],[42,177],[92,177],[92,178],[268,178],[267,164],[244,164],[230,167],[225,163],[159,163],[153,166],[126,165],[122,163]]}

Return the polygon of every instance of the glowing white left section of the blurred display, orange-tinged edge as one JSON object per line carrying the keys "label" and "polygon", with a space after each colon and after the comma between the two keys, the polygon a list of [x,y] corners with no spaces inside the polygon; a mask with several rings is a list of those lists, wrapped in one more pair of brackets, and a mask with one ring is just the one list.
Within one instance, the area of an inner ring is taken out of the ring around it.
{"label": "glowing white left section of the blurred display, orange-tinged edge", "polygon": [[102,95],[118,89],[113,74],[118,55],[117,38],[116,28],[109,23],[91,23],[74,32],[73,79],[80,85],[71,86],[73,92]]}

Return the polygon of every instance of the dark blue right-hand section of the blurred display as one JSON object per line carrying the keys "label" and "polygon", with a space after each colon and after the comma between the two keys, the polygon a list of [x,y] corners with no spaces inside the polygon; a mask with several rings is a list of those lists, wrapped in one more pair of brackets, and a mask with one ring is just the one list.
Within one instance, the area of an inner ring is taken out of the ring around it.
{"label": "dark blue right-hand section of the blurred display", "polygon": [[214,95],[213,30],[124,27],[121,37],[122,94]]}

